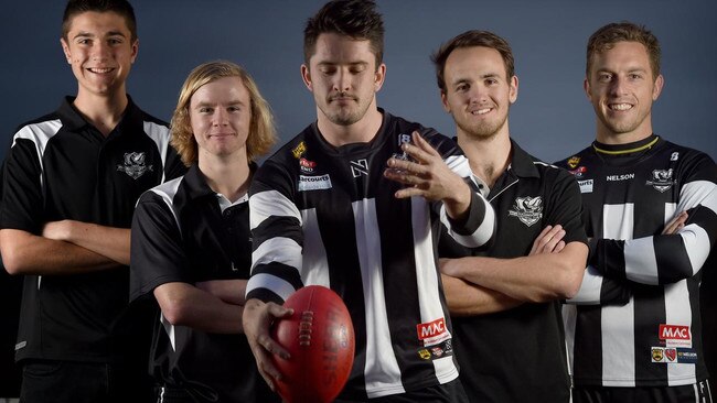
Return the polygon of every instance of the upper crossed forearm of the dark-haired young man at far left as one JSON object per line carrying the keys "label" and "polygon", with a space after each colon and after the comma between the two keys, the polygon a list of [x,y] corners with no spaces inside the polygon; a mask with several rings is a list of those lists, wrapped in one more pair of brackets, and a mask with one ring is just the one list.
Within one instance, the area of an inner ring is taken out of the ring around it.
{"label": "upper crossed forearm of the dark-haired young man at far left", "polygon": [[92,222],[62,220],[47,222],[45,238],[74,243],[117,263],[129,265],[130,229]]}

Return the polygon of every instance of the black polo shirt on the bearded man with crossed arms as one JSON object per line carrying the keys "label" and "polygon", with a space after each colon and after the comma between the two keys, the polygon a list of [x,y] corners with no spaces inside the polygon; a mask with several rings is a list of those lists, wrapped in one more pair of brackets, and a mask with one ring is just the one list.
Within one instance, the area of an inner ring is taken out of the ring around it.
{"label": "black polo shirt on the bearded man with crossed arms", "polygon": [[[442,236],[441,258],[525,257],[541,231],[557,224],[566,230],[566,243],[587,243],[572,176],[511,144],[511,165],[486,197],[495,209],[495,242],[479,252]],[[559,301],[452,319],[460,378],[471,402],[568,402]]]}

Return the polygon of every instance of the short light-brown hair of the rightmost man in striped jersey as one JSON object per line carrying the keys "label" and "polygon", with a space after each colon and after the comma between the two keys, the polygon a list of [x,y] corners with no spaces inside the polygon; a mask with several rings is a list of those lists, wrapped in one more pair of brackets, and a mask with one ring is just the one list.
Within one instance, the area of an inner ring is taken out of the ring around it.
{"label": "short light-brown hair of the rightmost man in striped jersey", "polygon": [[611,50],[618,42],[638,42],[645,46],[650,56],[653,78],[660,75],[660,41],[644,25],[623,21],[607,24],[597,30],[588,40],[587,63],[585,74],[590,76],[590,67],[596,54]]}

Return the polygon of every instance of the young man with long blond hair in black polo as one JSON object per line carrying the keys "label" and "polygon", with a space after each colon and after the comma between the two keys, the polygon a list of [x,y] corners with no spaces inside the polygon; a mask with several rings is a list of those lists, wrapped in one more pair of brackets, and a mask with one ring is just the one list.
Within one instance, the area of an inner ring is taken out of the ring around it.
{"label": "young man with long blond hair in black polo", "polygon": [[150,367],[162,402],[272,402],[243,335],[252,265],[247,190],[276,139],[252,77],[229,62],[197,66],[172,118],[190,166],[147,192],[132,222],[131,296],[156,298]]}

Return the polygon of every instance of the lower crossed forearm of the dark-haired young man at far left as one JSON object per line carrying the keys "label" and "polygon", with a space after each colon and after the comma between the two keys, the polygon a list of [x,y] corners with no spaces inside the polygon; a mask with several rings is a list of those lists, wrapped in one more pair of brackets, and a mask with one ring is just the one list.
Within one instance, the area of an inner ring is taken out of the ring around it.
{"label": "lower crossed forearm of the dark-haired young man at far left", "polygon": [[81,274],[120,266],[83,247],[15,229],[0,230],[0,251],[10,274]]}

